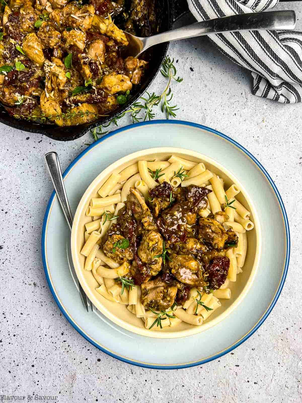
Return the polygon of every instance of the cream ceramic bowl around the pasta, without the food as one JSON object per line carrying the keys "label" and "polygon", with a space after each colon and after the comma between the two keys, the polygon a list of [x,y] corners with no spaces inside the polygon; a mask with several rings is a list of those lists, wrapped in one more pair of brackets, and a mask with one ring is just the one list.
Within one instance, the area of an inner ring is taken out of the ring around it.
{"label": "cream ceramic bowl around the pasta, without the food", "polygon": [[[250,212],[250,219],[254,222],[254,229],[247,231],[248,250],[246,255],[246,261],[244,264],[243,272],[237,276],[235,283],[230,283],[230,289],[232,291],[231,299],[220,299],[221,307],[219,307],[213,314],[207,319],[201,326],[193,326],[185,322],[180,323],[174,327],[165,327],[161,330],[149,330],[145,328],[145,325],[141,318],[137,318],[127,310],[126,305],[109,301],[99,295],[95,288],[99,287],[97,281],[93,277],[91,271],[84,270],[85,256],[80,254],[80,251],[85,243],[84,233],[85,224],[91,221],[90,217],[85,215],[87,207],[89,206],[90,199],[92,197],[98,197],[97,191],[108,179],[113,170],[120,172],[127,166],[134,164],[139,160],[168,160],[170,156],[174,154],[186,160],[195,162],[204,162],[207,169],[215,172],[219,177],[223,178],[225,182],[225,188],[228,188],[233,183],[239,187],[241,192],[236,198],[242,203]],[[101,158],[101,156],[100,156]],[[206,330],[215,324],[221,322],[226,318],[245,297],[246,293],[252,285],[256,270],[259,264],[260,252],[261,252],[261,231],[260,223],[256,213],[256,209],[247,192],[244,189],[244,184],[240,183],[234,175],[221,166],[218,162],[197,152],[191,150],[185,150],[182,148],[160,147],[152,148],[148,150],[142,150],[133,154],[130,154],[120,160],[114,162],[108,168],[103,170],[95,180],[89,185],[85,191],[81,201],[77,207],[77,211],[74,215],[71,231],[71,252],[72,261],[75,271],[79,278],[79,281],[89,299],[112,322],[118,324],[122,328],[130,330],[131,332],[141,334],[147,337],[156,337],[163,339],[172,339],[176,337],[185,337],[192,334],[196,334]]]}

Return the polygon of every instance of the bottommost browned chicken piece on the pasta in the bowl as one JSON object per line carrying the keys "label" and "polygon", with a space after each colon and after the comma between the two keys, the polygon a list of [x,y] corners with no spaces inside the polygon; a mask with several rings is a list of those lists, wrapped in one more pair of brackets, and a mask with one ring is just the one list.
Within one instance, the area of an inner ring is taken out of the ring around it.
{"label": "bottommost browned chicken piece on the pasta in the bowl", "polygon": [[169,285],[157,277],[141,285],[141,301],[144,307],[154,310],[165,310],[173,305],[177,288]]}

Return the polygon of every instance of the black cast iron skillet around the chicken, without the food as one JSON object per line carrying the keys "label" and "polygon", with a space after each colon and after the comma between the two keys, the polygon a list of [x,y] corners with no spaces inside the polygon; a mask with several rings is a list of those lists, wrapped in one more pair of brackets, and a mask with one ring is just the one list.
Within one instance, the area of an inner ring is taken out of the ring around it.
{"label": "black cast iron skillet around the chicken, without the food", "polygon": [[[157,0],[157,9],[159,10],[157,15],[159,15],[161,18],[159,21],[159,32],[164,32],[172,29],[174,21],[188,11],[188,4],[186,0]],[[85,125],[59,127],[55,125],[45,125],[15,119],[9,116],[4,108],[0,106],[0,122],[4,123],[4,125],[14,127],[14,129],[27,131],[29,133],[44,134],[54,140],[70,141],[78,139],[96,125],[106,123],[113,117],[118,116],[120,113],[129,109],[133,102],[138,100],[143,95],[159,72],[161,64],[165,58],[165,55],[167,54],[168,47],[169,43],[156,45],[150,50],[147,50],[146,56],[144,57],[145,60],[149,60],[149,69],[147,75],[137,89],[135,91],[132,90],[131,100],[106,117],[94,120],[93,122]]]}

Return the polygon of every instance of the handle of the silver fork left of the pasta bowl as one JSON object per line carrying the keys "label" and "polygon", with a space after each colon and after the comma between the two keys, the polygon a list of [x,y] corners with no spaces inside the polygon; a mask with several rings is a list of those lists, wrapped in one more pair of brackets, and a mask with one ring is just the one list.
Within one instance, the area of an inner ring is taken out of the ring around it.
{"label": "handle of the silver fork left of the pasta bowl", "polygon": [[54,189],[58,196],[58,200],[71,231],[73,221],[72,212],[70,210],[67,199],[58,154],[56,152],[48,152],[47,154],[45,154],[45,160],[50,173],[50,177],[52,179],[52,183],[54,184]]}

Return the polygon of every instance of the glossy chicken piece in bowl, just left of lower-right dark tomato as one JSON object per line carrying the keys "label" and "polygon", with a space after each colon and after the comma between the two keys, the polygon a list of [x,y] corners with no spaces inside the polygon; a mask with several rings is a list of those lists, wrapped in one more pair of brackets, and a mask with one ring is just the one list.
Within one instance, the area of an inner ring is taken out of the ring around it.
{"label": "glossy chicken piece in bowl, just left of lower-right dark tomato", "polygon": [[171,269],[171,273],[181,283],[201,287],[205,285],[203,266],[192,255],[176,255],[176,253],[171,253],[168,266]]}

